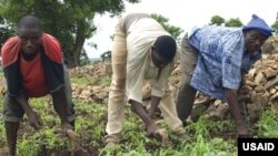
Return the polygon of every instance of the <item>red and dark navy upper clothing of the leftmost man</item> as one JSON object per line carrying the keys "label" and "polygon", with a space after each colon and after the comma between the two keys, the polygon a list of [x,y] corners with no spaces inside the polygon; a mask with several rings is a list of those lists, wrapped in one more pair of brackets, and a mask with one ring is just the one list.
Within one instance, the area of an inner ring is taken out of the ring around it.
{"label": "red and dark navy upper clothing of the leftmost man", "polygon": [[18,37],[10,38],[1,49],[7,93],[38,97],[54,93],[64,85],[63,59],[59,41],[42,35],[42,50],[32,61],[23,60]]}

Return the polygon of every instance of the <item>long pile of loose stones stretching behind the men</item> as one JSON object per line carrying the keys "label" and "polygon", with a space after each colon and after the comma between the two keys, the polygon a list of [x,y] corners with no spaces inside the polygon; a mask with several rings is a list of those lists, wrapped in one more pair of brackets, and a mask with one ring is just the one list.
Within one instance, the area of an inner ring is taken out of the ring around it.
{"label": "long pile of loose stones stretching behind the men", "polygon": [[[86,67],[76,67],[70,70],[71,76],[93,76],[95,79],[102,79],[103,76],[110,76],[108,71],[110,64],[106,62],[97,63]],[[107,70],[108,69],[108,70]],[[170,84],[173,90],[175,96],[177,96],[178,87],[180,85],[180,69],[181,66],[176,64],[175,70],[170,77]],[[239,104],[242,112],[248,115],[250,121],[256,121],[258,114],[265,106],[278,107],[278,53],[277,51],[268,52],[262,55],[262,59],[257,61],[249,73],[246,75],[245,89],[248,93],[240,96]],[[100,102],[107,103],[109,85],[88,85],[79,86],[72,84],[73,97],[81,98],[86,102]],[[146,84],[142,89],[143,100],[150,98],[150,85]],[[229,115],[228,104],[219,100],[215,100],[208,96],[197,93],[195,102],[195,110],[192,113],[198,114],[199,107],[203,110],[208,117],[225,118]],[[196,116],[196,114],[192,114]],[[198,116],[198,115],[197,115]]]}

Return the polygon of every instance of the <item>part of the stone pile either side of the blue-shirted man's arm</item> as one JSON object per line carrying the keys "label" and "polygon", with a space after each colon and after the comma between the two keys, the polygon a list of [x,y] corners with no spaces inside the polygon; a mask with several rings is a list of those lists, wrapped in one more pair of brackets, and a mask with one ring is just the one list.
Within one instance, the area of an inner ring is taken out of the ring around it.
{"label": "part of the stone pile either side of the blue-shirted man's arm", "polygon": [[[266,106],[278,107],[278,54],[265,54],[246,75],[247,93],[240,95],[239,104],[242,114],[251,123],[259,117]],[[198,116],[200,107],[208,117],[222,119],[229,115],[228,104],[219,100],[197,94],[196,110],[192,116]],[[196,114],[197,113],[197,114]]]}

